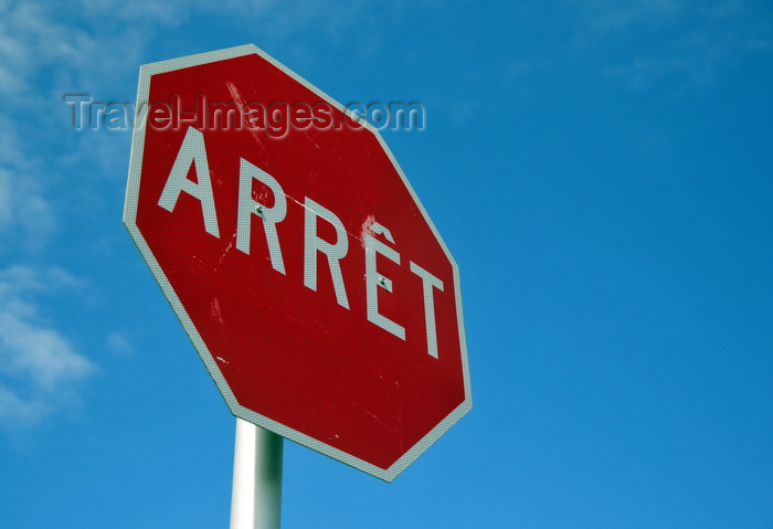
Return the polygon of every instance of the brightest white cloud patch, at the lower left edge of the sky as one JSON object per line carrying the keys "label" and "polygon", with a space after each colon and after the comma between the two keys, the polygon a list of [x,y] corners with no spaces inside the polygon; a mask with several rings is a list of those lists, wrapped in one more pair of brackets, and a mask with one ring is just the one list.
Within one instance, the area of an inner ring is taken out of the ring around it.
{"label": "brightest white cloud patch, at the lower left edge of the sky", "polygon": [[94,364],[39,314],[40,296],[85,283],[56,267],[0,271],[0,426],[32,426],[74,396]]}

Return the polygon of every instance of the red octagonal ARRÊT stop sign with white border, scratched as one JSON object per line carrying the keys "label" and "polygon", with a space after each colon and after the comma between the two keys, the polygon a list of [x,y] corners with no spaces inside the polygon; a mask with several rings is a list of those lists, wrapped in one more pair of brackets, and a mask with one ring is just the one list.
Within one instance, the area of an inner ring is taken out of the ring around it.
{"label": "red octagonal ARR\u00caT stop sign with white border, scratched", "polygon": [[124,222],[232,413],[392,480],[472,408],[456,264],[379,133],[253,45],[144,65]]}

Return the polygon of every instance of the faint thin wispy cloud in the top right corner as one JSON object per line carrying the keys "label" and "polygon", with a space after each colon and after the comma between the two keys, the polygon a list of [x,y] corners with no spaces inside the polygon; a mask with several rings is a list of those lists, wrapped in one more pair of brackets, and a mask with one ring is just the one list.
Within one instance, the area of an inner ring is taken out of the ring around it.
{"label": "faint thin wispy cloud in the top right corner", "polygon": [[646,88],[711,83],[743,55],[773,50],[773,6],[758,0],[592,0],[574,6],[573,53]]}

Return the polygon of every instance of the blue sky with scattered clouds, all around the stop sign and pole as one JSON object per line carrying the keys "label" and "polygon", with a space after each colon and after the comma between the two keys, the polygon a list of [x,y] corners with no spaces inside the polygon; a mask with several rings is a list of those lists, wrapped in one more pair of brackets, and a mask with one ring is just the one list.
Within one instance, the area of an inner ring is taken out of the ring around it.
{"label": "blue sky with scattered clouds, all around the stop sign and pole", "polygon": [[773,6],[0,1],[0,526],[227,523],[234,419],[121,225],[140,64],[254,43],[384,131],[474,408],[392,484],[286,443],[284,527],[773,528]]}

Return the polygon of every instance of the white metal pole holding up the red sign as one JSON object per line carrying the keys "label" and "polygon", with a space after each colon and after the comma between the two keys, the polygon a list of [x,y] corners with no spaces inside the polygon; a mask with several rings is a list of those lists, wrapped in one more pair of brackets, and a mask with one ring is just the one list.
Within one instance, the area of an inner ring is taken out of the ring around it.
{"label": "white metal pole holding up the red sign", "polygon": [[236,417],[231,529],[279,529],[283,438]]}

